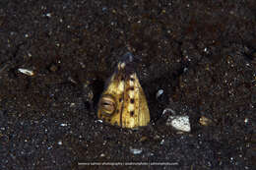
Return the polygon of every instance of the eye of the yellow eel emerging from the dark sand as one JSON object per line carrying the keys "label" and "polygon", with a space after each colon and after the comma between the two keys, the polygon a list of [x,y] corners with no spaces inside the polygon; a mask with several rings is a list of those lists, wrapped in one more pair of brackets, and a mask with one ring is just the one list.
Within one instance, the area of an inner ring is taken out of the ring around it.
{"label": "eye of the yellow eel emerging from the dark sand", "polygon": [[100,101],[100,107],[101,107],[102,113],[105,113],[107,115],[112,115],[116,107],[114,98],[110,95],[102,96]]}

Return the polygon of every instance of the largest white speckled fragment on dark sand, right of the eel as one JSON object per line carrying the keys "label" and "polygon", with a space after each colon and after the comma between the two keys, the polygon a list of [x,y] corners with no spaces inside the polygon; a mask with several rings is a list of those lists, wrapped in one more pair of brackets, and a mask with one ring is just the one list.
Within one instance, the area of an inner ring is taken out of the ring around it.
{"label": "largest white speckled fragment on dark sand, right of the eel", "polygon": [[167,126],[172,126],[177,131],[190,132],[190,123],[188,116],[169,116],[166,122]]}

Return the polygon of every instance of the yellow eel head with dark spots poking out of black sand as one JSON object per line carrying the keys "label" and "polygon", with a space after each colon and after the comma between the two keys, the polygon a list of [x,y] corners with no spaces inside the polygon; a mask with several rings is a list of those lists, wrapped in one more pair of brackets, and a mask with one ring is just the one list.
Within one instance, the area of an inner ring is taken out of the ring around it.
{"label": "yellow eel head with dark spots poking out of black sand", "polygon": [[131,55],[118,63],[98,102],[97,117],[122,128],[147,126],[150,111]]}

